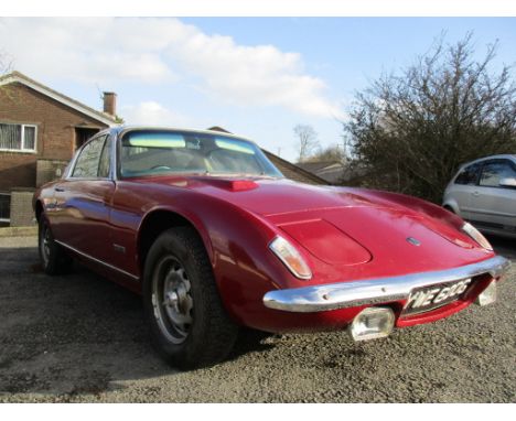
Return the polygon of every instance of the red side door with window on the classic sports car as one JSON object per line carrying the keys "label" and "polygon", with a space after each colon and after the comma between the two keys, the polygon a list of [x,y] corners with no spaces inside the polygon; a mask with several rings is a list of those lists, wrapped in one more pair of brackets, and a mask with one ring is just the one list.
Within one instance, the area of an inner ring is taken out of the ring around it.
{"label": "red side door with window on the classic sports car", "polygon": [[110,203],[115,182],[110,170],[111,141],[99,136],[78,152],[65,180],[55,185],[57,240],[105,261],[109,256]]}

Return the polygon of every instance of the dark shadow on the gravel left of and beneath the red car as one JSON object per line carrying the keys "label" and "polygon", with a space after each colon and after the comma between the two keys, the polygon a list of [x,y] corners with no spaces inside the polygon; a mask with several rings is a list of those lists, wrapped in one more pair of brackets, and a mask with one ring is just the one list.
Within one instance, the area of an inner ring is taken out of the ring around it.
{"label": "dark shadow on the gravel left of and beneath the red car", "polygon": [[[49,277],[35,261],[35,248],[0,250],[0,401],[4,393],[66,400],[178,374],[150,345],[139,295],[79,263]],[[229,359],[270,349],[262,338],[246,331]]]}

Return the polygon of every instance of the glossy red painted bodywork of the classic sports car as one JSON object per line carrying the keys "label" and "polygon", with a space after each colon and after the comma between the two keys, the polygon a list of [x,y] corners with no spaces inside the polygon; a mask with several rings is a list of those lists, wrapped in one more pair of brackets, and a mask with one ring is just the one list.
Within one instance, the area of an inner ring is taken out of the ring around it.
{"label": "glossy red painted bodywork of the classic sports car", "polygon": [[[110,141],[115,145],[117,140]],[[146,222],[157,213],[181,216],[204,241],[229,315],[270,332],[342,328],[364,309],[272,310],[262,302],[271,290],[444,270],[494,256],[459,230],[463,224],[459,217],[423,201],[288,180],[63,179],[41,187],[34,205],[49,219],[55,239],[78,251],[86,265],[137,292]],[[297,246],[313,272],[311,280],[293,277],[269,250],[279,234]],[[413,247],[406,240],[409,236],[421,245]],[[400,317],[405,301],[383,305],[394,309],[400,327],[433,322],[467,306],[488,281],[479,282],[463,300],[418,315]]]}

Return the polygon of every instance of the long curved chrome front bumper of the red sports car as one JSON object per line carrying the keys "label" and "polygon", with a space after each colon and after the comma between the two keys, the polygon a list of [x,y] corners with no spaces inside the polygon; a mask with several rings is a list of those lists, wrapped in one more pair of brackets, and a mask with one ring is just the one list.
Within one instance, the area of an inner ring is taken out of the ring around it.
{"label": "long curved chrome front bumper of the red sports car", "polygon": [[417,288],[487,273],[493,278],[498,278],[509,267],[509,260],[502,256],[496,256],[477,263],[433,272],[275,290],[264,295],[264,304],[269,309],[295,313],[322,312],[364,304],[378,304],[407,300],[410,292]]}

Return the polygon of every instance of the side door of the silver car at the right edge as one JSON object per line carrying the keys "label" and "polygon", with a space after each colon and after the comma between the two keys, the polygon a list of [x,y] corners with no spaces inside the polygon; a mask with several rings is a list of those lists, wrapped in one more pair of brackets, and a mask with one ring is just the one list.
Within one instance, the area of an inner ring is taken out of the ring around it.
{"label": "side door of the silver car at the right edge", "polygon": [[471,196],[471,220],[485,227],[516,227],[516,190],[499,185],[503,179],[516,179],[516,165],[507,159],[485,161],[479,185]]}

